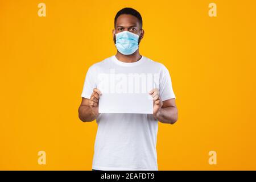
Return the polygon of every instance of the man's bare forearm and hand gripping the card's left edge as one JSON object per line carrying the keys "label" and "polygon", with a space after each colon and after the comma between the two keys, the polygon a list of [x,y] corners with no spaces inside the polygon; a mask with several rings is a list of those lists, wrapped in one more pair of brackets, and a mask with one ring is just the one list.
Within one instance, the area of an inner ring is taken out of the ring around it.
{"label": "man's bare forearm and hand gripping the card's left edge", "polygon": [[100,95],[100,90],[95,88],[90,99],[82,98],[79,106],[79,118],[81,121],[90,122],[98,117],[98,100],[100,99]]}

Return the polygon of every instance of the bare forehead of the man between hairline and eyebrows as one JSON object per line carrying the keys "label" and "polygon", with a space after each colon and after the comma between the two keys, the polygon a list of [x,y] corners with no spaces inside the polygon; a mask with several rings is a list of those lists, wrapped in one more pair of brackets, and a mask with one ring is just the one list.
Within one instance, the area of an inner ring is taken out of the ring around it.
{"label": "bare forehead of the man between hairline and eyebrows", "polygon": [[127,15],[127,14],[122,14],[118,16],[117,22],[116,22],[116,27],[118,26],[139,26],[139,20],[133,15]]}

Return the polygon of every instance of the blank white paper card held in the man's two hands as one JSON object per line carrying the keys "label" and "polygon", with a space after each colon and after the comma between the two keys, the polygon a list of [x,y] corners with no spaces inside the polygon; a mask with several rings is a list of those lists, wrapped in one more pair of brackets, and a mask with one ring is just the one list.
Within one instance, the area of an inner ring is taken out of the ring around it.
{"label": "blank white paper card held in the man's two hands", "polygon": [[[156,81],[155,81],[156,78]],[[153,114],[154,102],[148,93],[155,88],[158,74],[110,73],[98,75],[97,88],[101,91],[99,113]]]}

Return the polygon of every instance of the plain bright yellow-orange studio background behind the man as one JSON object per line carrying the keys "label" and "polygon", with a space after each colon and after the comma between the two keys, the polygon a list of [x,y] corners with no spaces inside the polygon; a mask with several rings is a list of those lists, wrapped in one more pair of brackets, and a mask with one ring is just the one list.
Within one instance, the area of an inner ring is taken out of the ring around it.
{"label": "plain bright yellow-orange studio background behind the man", "polygon": [[97,124],[77,110],[89,66],[116,52],[112,28],[123,7],[142,14],[140,52],[166,65],[176,94],[179,120],[159,123],[159,170],[255,170],[253,0],[1,0],[0,169],[92,169]]}

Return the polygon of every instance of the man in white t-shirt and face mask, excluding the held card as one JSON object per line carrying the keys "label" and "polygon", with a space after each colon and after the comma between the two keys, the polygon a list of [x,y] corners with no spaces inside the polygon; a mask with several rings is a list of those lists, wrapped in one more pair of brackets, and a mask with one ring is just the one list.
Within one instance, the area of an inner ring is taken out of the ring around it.
{"label": "man in white t-shirt and face mask, excluding the held card", "polygon": [[[168,69],[140,55],[138,45],[143,36],[141,14],[131,8],[118,11],[113,30],[116,55],[93,64],[86,73],[79,118],[83,122],[96,119],[98,125],[94,170],[158,170],[158,121],[170,124],[177,121],[175,94]],[[159,84],[148,93],[154,101],[154,114],[98,113],[101,90],[97,89],[97,75],[113,68],[122,73],[159,74]]]}

